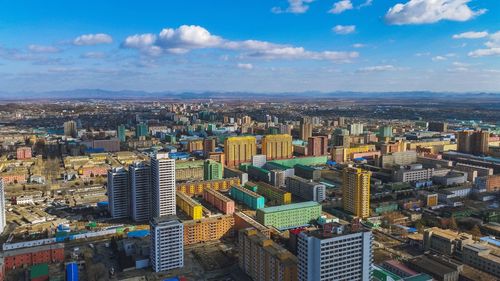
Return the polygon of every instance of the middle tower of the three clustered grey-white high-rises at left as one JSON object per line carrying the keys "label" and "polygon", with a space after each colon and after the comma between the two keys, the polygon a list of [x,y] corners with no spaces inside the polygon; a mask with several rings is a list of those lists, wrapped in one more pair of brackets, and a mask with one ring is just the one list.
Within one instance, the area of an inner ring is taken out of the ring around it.
{"label": "middle tower of the three clustered grey-white high-rises at left", "polygon": [[151,167],[144,162],[129,166],[130,210],[134,221],[151,218]]}

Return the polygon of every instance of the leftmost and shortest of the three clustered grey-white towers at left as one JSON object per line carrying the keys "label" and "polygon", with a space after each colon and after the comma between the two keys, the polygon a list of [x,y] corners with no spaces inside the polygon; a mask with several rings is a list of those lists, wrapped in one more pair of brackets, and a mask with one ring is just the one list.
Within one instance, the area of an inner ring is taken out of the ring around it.
{"label": "leftmost and shortest of the three clustered grey-white towers at left", "polygon": [[109,213],[114,219],[128,218],[130,211],[130,189],[127,170],[123,167],[108,171]]}

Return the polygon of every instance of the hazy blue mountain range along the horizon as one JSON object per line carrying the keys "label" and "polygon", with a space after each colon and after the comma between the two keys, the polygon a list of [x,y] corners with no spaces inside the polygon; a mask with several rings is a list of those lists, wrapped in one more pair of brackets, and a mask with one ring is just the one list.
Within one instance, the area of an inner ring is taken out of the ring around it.
{"label": "hazy blue mountain range along the horizon", "polygon": [[[432,99],[450,100],[457,102],[460,99],[494,100],[500,102],[500,93],[453,93],[453,92],[283,92],[283,93],[252,93],[252,92],[146,92],[146,91],[110,91],[102,89],[75,89],[67,91],[48,92],[0,92],[0,101],[27,101],[27,100],[188,100],[188,99],[232,99],[232,100],[272,100],[283,99]],[[465,100],[464,100],[465,101]]]}

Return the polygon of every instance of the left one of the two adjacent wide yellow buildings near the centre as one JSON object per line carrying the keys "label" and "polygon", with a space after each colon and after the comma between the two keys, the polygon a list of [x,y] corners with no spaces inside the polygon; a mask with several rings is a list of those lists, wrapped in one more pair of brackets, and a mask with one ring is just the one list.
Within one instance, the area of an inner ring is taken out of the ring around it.
{"label": "left one of the two adjacent wide yellow buildings near the centre", "polygon": [[251,162],[257,154],[256,139],[253,136],[228,137],[224,141],[226,165],[237,167],[241,163]]}

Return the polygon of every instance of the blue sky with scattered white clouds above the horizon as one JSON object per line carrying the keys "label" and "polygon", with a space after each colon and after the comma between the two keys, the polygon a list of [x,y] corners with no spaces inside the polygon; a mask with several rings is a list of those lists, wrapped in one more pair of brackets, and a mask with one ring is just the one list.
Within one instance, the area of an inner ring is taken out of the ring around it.
{"label": "blue sky with scattered white clouds above the horizon", "polygon": [[77,88],[500,92],[500,1],[0,0],[0,91]]}

